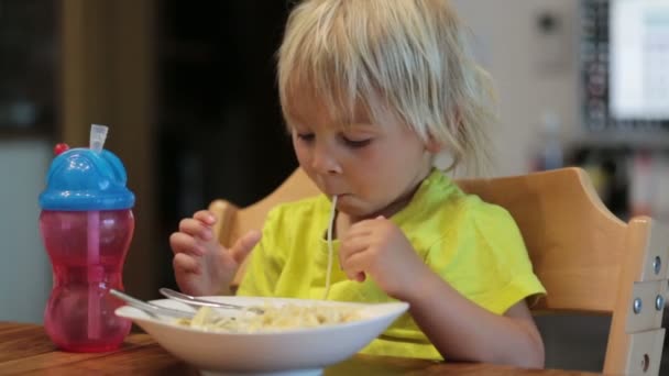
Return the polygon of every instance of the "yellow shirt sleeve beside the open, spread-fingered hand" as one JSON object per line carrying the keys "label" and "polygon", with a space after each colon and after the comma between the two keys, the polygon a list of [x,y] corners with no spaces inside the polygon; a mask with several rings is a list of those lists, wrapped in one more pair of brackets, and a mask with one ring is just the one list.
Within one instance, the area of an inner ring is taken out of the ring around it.
{"label": "yellow shirt sleeve beside the open, spread-fingered hand", "polygon": [[284,265],[283,253],[277,244],[277,229],[282,215],[278,209],[267,214],[262,239],[248,257],[251,257],[242,281],[237,290],[239,296],[274,296],[274,287]]}

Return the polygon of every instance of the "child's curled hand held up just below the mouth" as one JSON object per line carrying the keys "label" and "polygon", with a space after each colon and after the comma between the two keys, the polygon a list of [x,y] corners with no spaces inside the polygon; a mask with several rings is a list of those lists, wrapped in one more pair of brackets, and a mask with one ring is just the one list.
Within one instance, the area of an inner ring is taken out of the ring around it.
{"label": "child's curled hand held up just below the mouth", "polygon": [[350,279],[363,281],[369,274],[387,295],[401,300],[429,272],[402,230],[383,217],[351,226],[342,237],[339,262]]}

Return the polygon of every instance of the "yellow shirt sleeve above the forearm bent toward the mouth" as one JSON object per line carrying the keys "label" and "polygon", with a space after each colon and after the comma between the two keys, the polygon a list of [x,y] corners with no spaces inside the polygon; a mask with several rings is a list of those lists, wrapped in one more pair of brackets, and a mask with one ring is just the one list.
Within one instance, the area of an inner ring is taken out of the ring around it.
{"label": "yellow shirt sleeve above the forearm bent toward the mouth", "polygon": [[470,209],[430,247],[427,264],[432,270],[464,297],[497,314],[523,299],[545,295],[511,214],[482,201]]}

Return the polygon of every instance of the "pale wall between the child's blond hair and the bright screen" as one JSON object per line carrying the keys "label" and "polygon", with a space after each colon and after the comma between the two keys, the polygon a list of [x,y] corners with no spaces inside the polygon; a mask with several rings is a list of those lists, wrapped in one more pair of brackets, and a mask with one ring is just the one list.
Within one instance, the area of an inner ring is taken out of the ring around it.
{"label": "pale wall between the child's blond hair and the bright screen", "polygon": [[[524,174],[540,141],[545,111],[553,111],[564,140],[579,134],[575,64],[577,0],[454,0],[470,26],[474,52],[496,82],[500,122],[491,130],[492,175]],[[550,12],[561,32],[541,36],[537,18]]]}

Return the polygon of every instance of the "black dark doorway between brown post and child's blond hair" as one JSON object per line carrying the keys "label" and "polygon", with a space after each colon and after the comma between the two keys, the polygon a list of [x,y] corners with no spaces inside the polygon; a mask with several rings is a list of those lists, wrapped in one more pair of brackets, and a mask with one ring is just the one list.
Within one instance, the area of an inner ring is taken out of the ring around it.
{"label": "black dark doorway between brown post and child's blond hair", "polygon": [[[161,248],[215,198],[246,206],[295,167],[278,104],[275,54],[285,1],[158,3]],[[173,286],[172,255],[163,285]]]}

